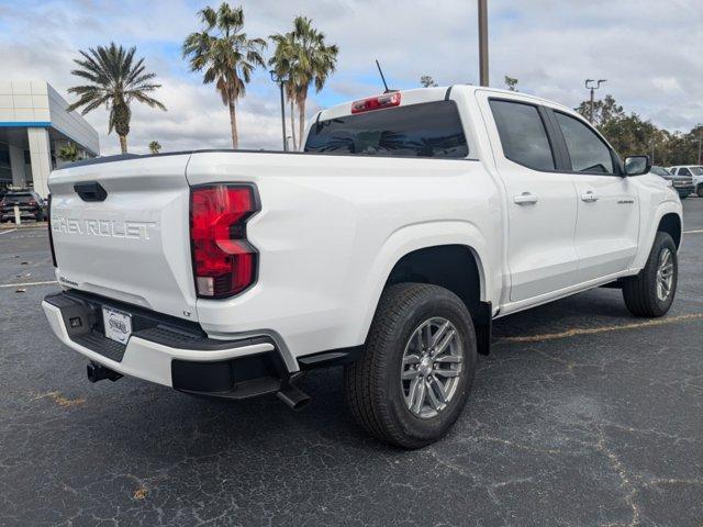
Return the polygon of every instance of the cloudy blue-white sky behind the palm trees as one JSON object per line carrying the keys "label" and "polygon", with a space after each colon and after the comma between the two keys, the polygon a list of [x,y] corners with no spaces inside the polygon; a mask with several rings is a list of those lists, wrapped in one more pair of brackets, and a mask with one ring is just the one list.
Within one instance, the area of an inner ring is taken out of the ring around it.
{"label": "cloudy blue-white sky behind the palm trees", "polygon": [[[164,113],[135,105],[130,149],[227,147],[228,116],[212,86],[188,71],[183,37],[208,2],[189,0],[0,0],[0,78],[44,79],[69,102],[78,49],[114,41],[136,46],[163,88]],[[215,1],[210,2],[213,7]],[[309,103],[320,106],[379,91],[378,58],[393,88],[478,82],[476,0],[242,0],[246,31],[265,37],[292,19],[313,19],[339,48],[337,72]],[[703,122],[703,0],[489,0],[491,85],[520,79],[521,91],[576,106],[585,78],[607,79],[627,111],[688,131]],[[278,91],[259,71],[238,104],[246,148],[280,146]],[[107,114],[87,116],[102,154],[119,149]]]}

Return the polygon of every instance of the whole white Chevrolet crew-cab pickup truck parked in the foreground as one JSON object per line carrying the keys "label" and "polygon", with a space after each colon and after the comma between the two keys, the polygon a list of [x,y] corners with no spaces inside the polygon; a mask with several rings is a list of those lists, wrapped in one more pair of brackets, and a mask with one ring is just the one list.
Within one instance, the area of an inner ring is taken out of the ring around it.
{"label": "whole white Chevrolet crew-cab pickup truck parked in the foreground", "polygon": [[677,288],[677,192],[560,104],[470,86],[321,111],[304,153],[188,152],[49,178],[43,307],[91,381],[291,407],[344,365],[381,440],[439,438],[491,321],[600,285],[636,316]]}

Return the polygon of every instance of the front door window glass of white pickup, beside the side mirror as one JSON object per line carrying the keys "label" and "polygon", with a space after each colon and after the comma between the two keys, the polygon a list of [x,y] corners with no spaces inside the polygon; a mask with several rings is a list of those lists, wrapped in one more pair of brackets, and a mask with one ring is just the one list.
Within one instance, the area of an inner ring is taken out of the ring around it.
{"label": "front door window glass of white pickup, beside the side mirror", "polygon": [[611,150],[590,127],[578,119],[555,112],[574,172],[614,173]]}

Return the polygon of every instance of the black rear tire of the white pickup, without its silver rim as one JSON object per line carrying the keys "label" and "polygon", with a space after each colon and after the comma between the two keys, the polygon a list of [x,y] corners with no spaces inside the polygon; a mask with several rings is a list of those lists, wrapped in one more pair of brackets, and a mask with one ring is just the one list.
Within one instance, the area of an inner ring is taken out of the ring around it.
{"label": "black rear tire of the white pickup, without its silver rim", "polygon": [[[405,403],[400,373],[410,337],[433,317],[449,321],[456,328],[461,373],[446,406],[437,415],[420,417]],[[376,438],[402,448],[421,448],[439,439],[460,415],[476,363],[473,324],[456,294],[422,283],[391,285],[379,302],[364,356],[345,368],[347,402],[356,421]]]}

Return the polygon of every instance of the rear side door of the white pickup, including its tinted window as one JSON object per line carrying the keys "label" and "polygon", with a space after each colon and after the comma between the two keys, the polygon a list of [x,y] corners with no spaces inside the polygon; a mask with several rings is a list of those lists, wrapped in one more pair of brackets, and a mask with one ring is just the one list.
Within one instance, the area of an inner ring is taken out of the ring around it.
{"label": "rear side door of the white pickup, including its tinted window", "polygon": [[505,186],[510,301],[553,293],[577,282],[573,176],[557,170],[544,109],[529,99],[477,92]]}

